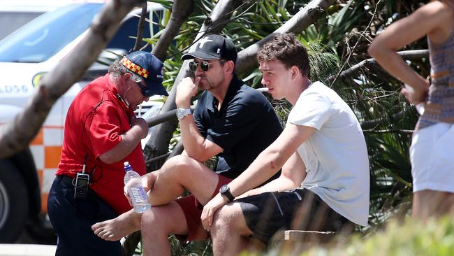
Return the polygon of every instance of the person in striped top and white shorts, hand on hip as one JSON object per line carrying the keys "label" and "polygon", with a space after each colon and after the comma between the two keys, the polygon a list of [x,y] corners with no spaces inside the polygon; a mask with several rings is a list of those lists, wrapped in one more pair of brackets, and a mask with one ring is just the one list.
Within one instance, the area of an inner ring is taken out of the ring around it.
{"label": "person in striped top and white shorts, hand on hip", "polygon": [[[430,51],[430,80],[396,52],[423,36]],[[402,94],[420,112],[410,148],[413,217],[454,213],[454,1],[431,1],[394,22],[374,39],[369,54],[405,84]]]}

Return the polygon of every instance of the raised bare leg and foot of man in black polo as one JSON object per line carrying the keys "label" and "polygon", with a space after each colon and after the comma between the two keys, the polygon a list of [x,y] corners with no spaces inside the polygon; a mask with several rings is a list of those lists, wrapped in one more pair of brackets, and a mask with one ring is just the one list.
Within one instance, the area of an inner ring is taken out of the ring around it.
{"label": "raised bare leg and foot of man in black polo", "polygon": [[[169,159],[156,176],[152,190],[148,193],[152,208],[163,206],[189,190],[202,204],[206,204],[216,188],[219,177],[214,171],[185,155]],[[142,214],[133,209],[112,220],[98,222],[91,229],[102,239],[117,241],[140,229]]]}

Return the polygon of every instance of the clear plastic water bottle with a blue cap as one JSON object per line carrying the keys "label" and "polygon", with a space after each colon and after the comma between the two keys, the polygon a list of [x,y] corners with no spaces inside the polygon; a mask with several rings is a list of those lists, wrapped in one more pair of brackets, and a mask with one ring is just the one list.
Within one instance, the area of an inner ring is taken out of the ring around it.
{"label": "clear plastic water bottle with a blue cap", "polygon": [[132,169],[129,162],[124,162],[124,171],[126,172],[124,174],[124,185],[133,201],[134,210],[138,213],[143,213],[152,208],[152,205],[149,204],[147,193],[142,187],[139,173]]}

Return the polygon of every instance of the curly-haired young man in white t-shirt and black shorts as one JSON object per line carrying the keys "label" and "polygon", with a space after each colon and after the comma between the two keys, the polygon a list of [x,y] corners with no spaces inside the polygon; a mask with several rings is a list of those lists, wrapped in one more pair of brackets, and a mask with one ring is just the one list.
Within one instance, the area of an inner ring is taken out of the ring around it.
{"label": "curly-haired young man in white t-shirt and black shorts", "polygon": [[249,236],[267,243],[279,229],[367,226],[369,160],[356,115],[335,91],[311,83],[307,51],[293,34],[275,37],[257,58],[268,92],[293,108],[279,138],[203,208],[214,255],[237,255]]}

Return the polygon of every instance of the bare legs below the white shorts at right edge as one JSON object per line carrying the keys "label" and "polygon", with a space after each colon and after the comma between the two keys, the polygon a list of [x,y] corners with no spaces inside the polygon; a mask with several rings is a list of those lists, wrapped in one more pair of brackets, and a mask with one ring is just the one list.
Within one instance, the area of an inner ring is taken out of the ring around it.
{"label": "bare legs below the white shorts at right edge", "polygon": [[454,213],[454,194],[435,190],[421,190],[413,193],[412,216],[426,221]]}

